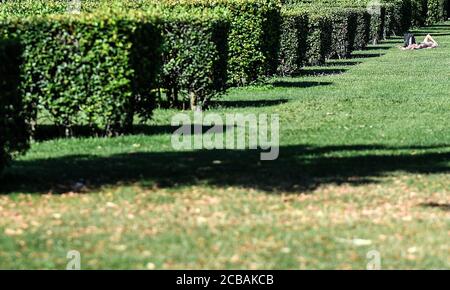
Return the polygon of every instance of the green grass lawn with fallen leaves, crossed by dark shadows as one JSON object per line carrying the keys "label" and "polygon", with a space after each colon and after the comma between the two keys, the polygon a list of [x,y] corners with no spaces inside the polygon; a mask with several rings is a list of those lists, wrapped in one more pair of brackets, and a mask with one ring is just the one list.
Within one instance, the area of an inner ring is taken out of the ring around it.
{"label": "green grass lawn with fallen leaves, crossed by dark shadows", "polygon": [[[213,112],[280,115],[280,157],[174,151],[171,110],[116,138],[42,138],[0,181],[0,268],[450,268],[450,23]],[[74,193],[73,185],[85,184]]]}

